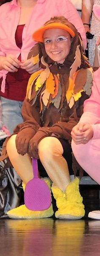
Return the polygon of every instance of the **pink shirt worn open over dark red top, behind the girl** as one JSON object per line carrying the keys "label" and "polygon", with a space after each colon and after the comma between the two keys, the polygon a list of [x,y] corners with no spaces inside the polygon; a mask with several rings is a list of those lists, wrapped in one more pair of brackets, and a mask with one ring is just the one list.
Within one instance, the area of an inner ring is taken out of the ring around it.
{"label": "pink shirt worn open over dark red top, behind the girl", "polygon": [[[69,0],[37,0],[31,17],[23,29],[22,48],[19,49],[15,42],[15,32],[19,23],[20,7],[17,5],[17,0],[12,0],[0,6],[0,55],[6,56],[11,53],[18,58],[21,54],[21,59],[27,59],[29,50],[35,44],[32,38],[33,32],[55,15],[63,15],[75,25],[85,48],[86,34],[83,23],[72,3]],[[0,78],[3,77],[2,92],[5,91],[7,73],[6,70],[0,70]]]}

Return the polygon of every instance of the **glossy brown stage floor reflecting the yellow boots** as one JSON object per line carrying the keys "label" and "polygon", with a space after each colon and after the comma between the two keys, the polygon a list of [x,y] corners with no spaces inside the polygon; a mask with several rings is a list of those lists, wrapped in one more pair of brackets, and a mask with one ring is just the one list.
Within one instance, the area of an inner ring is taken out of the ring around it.
{"label": "glossy brown stage floor reflecting the yellow boots", "polygon": [[87,217],[100,208],[98,191],[81,194],[86,208],[81,220],[0,219],[0,256],[100,256],[100,221]]}

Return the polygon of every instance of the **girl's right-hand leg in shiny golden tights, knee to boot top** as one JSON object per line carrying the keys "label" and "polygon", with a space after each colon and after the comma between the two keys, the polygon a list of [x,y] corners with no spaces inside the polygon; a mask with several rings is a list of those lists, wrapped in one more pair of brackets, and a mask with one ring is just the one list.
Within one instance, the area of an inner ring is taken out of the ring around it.
{"label": "girl's right-hand leg in shiny golden tights, knee to boot top", "polygon": [[61,142],[55,137],[46,137],[39,142],[38,149],[39,158],[53,184],[65,190],[70,177]]}

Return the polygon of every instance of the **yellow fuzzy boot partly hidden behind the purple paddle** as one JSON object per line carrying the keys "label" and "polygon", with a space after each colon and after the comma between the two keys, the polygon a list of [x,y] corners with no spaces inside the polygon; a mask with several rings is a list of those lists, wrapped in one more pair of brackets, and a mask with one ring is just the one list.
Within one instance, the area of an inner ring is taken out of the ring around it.
{"label": "yellow fuzzy boot partly hidden behind the purple paddle", "polygon": [[[44,179],[47,183],[47,186],[51,190],[50,181],[48,179]],[[25,184],[22,183],[23,189],[25,190]],[[53,206],[43,211],[31,211],[25,205],[20,205],[17,208],[14,208],[7,212],[8,217],[11,219],[41,219],[48,218],[53,215]]]}

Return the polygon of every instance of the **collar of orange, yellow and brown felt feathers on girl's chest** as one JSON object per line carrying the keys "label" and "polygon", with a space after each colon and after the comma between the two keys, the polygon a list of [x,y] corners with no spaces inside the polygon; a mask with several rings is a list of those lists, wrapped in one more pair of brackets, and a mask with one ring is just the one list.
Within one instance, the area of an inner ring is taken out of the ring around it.
{"label": "collar of orange, yellow and brown felt feathers on girl's chest", "polygon": [[35,104],[39,98],[40,113],[44,107],[49,108],[52,104],[58,111],[63,108],[67,101],[71,109],[75,101],[81,98],[84,91],[88,96],[91,94],[92,68],[76,71],[72,77],[64,74],[52,74],[50,70],[39,70],[32,74],[27,87],[26,98]]}

